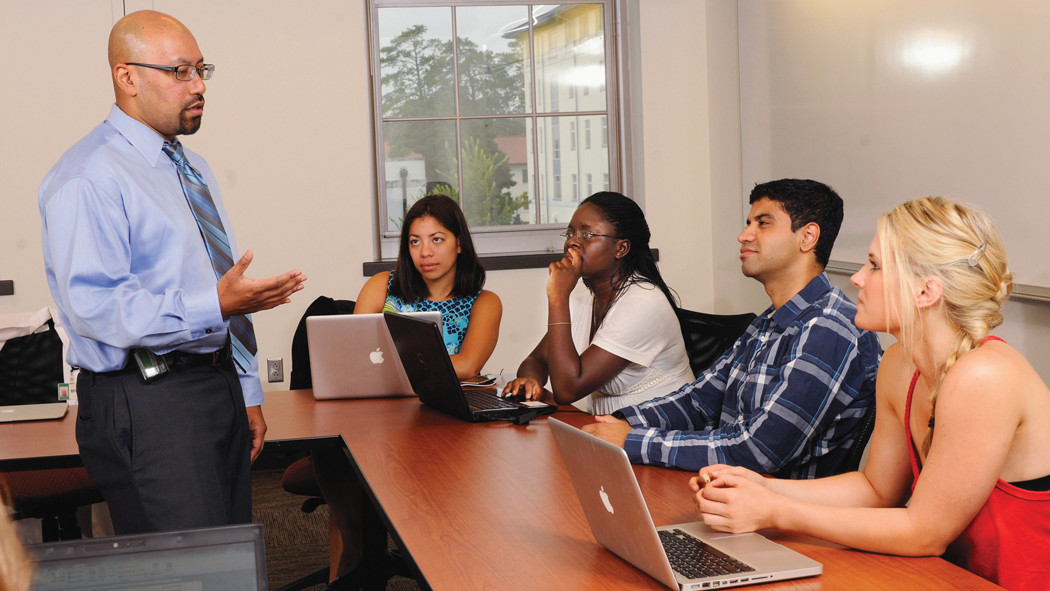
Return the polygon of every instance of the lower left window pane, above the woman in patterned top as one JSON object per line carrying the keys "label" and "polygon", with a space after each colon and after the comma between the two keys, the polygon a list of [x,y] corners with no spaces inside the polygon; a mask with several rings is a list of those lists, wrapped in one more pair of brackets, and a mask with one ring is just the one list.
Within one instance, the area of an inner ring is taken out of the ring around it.
{"label": "lower left window pane, above the woman in patterned top", "polygon": [[383,124],[387,232],[401,229],[404,212],[428,193],[458,191],[456,122],[405,121]]}

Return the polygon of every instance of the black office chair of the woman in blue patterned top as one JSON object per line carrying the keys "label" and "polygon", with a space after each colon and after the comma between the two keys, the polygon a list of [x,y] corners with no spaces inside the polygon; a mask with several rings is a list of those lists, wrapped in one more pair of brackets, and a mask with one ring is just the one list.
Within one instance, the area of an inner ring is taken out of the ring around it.
{"label": "black office chair of the woman in blue patterned top", "polygon": [[[310,344],[307,342],[307,318],[353,313],[353,300],[332,299],[328,296],[319,296],[307,307],[307,311],[299,319],[299,324],[295,328],[295,334],[292,335],[292,375],[289,380],[291,389],[313,387],[313,375],[310,372]],[[299,458],[285,468],[280,486],[292,494],[307,498],[300,507],[303,513],[311,513],[324,504],[310,456]],[[315,585],[323,585],[328,583],[328,575],[329,567],[324,567],[281,587],[277,591],[299,591]]]}

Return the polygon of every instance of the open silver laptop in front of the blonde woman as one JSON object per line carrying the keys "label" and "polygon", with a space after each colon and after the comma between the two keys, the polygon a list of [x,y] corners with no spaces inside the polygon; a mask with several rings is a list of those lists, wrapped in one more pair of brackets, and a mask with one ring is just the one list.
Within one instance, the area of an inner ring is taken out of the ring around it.
{"label": "open silver laptop in front of the blonde woman", "polygon": [[[547,422],[594,539],[671,589],[720,589],[823,572],[820,563],[758,533],[722,533],[700,522],[656,527],[623,448],[558,419]],[[697,557],[714,567],[687,574]]]}

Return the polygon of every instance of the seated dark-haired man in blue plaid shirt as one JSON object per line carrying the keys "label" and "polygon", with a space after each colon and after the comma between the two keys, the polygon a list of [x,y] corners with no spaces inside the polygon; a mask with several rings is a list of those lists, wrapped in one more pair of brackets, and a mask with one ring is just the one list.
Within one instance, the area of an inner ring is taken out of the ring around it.
{"label": "seated dark-haired man in blue plaid shirt", "polygon": [[584,430],[623,446],[635,463],[730,464],[794,479],[842,472],[862,444],[882,354],[824,274],[842,199],[822,183],[785,178],[756,186],[750,202],[737,237],[741,269],[772,305],[692,384],[620,418],[596,417]]}

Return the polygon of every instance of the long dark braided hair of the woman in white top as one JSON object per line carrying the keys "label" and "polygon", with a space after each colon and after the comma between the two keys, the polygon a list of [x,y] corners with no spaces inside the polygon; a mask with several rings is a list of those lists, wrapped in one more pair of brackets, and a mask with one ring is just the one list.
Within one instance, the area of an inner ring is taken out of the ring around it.
{"label": "long dark braided hair of the woman in white top", "polygon": [[[620,273],[613,281],[621,282],[617,292],[631,283],[648,281],[657,288],[667,300],[671,302],[671,308],[677,309],[674,293],[667,287],[664,277],[656,267],[656,259],[653,258],[653,251],[649,248],[649,224],[646,223],[646,214],[633,199],[616,193],[614,191],[601,191],[587,197],[581,206],[590,204],[602,211],[602,217],[612,225],[615,235],[631,241],[631,250],[621,259]],[[613,286],[617,287],[617,286]]]}

